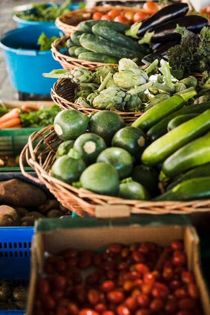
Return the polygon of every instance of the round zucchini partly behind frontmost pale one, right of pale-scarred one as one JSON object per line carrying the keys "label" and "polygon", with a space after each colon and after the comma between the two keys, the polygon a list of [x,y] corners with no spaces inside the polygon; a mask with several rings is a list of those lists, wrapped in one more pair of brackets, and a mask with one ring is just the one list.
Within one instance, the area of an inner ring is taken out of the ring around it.
{"label": "round zucchini partly behind frontmost pale one, right of pale-scarred one", "polygon": [[128,177],[133,167],[132,156],[121,147],[108,147],[103,150],[97,162],[111,164],[117,170],[120,179]]}

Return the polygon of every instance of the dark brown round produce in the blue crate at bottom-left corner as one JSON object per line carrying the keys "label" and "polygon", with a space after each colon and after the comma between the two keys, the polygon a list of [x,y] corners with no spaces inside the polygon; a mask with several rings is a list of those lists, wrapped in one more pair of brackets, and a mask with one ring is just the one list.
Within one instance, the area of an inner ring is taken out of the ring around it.
{"label": "dark brown round produce in the blue crate at bottom-left corner", "polygon": [[0,282],[0,310],[26,309],[27,296],[26,286],[3,280]]}

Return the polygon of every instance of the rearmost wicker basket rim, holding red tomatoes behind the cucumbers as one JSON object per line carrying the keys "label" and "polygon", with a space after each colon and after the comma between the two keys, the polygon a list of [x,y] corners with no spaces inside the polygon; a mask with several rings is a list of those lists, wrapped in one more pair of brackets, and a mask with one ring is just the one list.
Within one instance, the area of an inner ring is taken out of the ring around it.
{"label": "rearmost wicker basket rim, holding red tomatoes behind the cucumbers", "polygon": [[122,10],[122,12],[139,12],[143,11],[139,8],[131,8],[131,7],[116,7],[116,6],[98,6],[93,7],[91,9],[80,9],[69,12],[58,17],[55,20],[55,25],[65,34],[71,35],[72,32],[76,31],[77,25],[86,20],[91,20],[94,12],[101,12],[103,14],[107,14],[110,10]]}

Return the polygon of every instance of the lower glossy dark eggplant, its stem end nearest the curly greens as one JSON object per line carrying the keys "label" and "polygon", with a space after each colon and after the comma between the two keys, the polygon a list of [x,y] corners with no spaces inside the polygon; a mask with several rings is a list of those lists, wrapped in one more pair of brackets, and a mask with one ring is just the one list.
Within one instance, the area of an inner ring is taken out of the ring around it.
{"label": "lower glossy dark eggplant, its stem end nearest the curly greens", "polygon": [[181,35],[176,32],[177,24],[193,33],[199,33],[204,26],[209,26],[209,21],[198,15],[188,15],[150,29],[138,42],[139,44],[149,44],[163,43],[171,40],[180,41]]}

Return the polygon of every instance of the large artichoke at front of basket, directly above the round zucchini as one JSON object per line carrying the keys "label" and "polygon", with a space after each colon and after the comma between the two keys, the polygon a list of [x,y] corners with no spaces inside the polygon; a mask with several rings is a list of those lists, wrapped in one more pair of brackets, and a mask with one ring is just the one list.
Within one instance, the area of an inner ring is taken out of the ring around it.
{"label": "large artichoke at front of basket, directly above the round zucchini", "polygon": [[93,100],[93,107],[97,109],[110,109],[111,107],[122,109],[129,98],[130,96],[119,88],[108,88]]}

